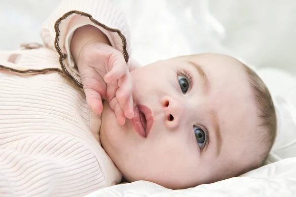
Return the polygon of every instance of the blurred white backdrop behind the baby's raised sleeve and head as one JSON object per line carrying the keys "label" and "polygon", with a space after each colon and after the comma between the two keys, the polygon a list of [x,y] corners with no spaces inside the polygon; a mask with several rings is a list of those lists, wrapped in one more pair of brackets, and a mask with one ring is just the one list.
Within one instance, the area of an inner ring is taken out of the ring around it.
{"label": "blurred white backdrop behind the baby's raised sleeve and head", "polygon": [[[126,13],[132,56],[143,65],[179,55],[221,52],[258,67],[296,73],[296,0],[113,1]],[[40,26],[59,2],[0,0],[0,49],[41,42]]]}

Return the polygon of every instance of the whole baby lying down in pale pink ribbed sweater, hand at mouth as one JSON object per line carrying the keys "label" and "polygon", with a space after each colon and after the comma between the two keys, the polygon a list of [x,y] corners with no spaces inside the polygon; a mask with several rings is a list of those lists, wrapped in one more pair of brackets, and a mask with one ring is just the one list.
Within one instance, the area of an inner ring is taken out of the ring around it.
{"label": "whole baby lying down in pale pink ribbed sweater, hand at mouth", "polygon": [[264,163],[276,115],[254,71],[219,54],[137,67],[126,27],[107,0],[64,0],[45,47],[0,52],[0,196],[83,196],[122,176],[182,189]]}

